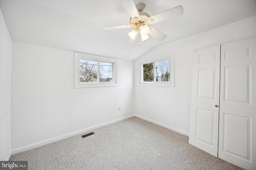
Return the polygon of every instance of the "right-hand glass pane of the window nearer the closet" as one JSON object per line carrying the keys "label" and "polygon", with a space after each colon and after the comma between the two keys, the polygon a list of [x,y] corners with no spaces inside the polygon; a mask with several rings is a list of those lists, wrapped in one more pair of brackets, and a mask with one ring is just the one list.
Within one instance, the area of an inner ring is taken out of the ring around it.
{"label": "right-hand glass pane of the window nearer the closet", "polygon": [[155,62],[156,82],[170,81],[170,60]]}

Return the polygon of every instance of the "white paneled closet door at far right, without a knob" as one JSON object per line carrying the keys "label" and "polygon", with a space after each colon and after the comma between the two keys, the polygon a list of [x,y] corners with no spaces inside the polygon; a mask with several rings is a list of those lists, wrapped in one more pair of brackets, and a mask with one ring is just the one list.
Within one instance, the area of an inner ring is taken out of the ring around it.
{"label": "white paneled closet door at far right, without a knob", "polygon": [[218,157],[256,169],[256,39],[221,46]]}

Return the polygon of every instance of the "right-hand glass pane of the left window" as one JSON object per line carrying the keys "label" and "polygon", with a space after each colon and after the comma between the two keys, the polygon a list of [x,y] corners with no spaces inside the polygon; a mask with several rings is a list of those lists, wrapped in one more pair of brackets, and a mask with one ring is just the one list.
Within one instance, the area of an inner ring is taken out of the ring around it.
{"label": "right-hand glass pane of the left window", "polygon": [[113,82],[113,63],[100,62],[100,82]]}

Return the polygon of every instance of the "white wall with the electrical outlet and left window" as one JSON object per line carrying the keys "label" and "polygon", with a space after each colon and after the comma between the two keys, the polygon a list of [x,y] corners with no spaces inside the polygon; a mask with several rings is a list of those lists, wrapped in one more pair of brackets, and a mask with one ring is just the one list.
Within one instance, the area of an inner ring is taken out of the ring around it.
{"label": "white wall with the electrical outlet and left window", "polygon": [[74,65],[74,52],[12,43],[12,154],[134,114],[133,62],[104,88],[74,88]]}

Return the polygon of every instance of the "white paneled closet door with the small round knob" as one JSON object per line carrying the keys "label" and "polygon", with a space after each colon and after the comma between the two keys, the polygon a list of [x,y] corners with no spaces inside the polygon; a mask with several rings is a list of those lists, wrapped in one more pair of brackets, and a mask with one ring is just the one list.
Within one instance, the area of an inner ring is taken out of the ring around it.
{"label": "white paneled closet door with the small round knob", "polygon": [[218,156],[220,45],[194,53],[189,143]]}

